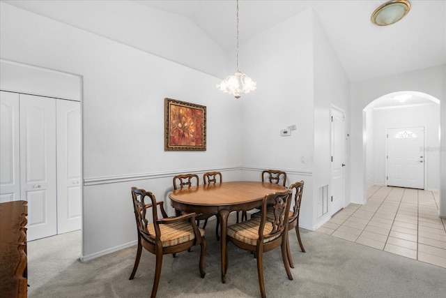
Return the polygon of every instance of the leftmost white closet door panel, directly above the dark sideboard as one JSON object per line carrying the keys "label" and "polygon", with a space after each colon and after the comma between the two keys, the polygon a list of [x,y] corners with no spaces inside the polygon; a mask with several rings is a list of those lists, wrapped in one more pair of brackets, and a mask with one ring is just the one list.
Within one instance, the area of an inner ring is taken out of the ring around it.
{"label": "leftmost white closet door panel, directly above the dark sideboard", "polygon": [[0,91],[0,202],[20,200],[19,94]]}

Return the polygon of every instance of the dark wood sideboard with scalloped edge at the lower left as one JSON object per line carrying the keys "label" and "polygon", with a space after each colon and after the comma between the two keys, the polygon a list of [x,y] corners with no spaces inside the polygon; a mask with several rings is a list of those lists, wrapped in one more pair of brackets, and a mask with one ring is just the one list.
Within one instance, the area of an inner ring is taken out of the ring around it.
{"label": "dark wood sideboard with scalloped edge at the lower left", "polygon": [[28,202],[0,203],[0,297],[27,296]]}

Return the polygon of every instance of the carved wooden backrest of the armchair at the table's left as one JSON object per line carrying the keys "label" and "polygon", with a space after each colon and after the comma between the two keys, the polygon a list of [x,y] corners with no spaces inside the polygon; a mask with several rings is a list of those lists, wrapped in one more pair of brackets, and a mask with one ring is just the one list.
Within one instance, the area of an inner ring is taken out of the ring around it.
{"label": "carved wooden backrest of the armchair at the table's left", "polygon": [[[145,202],[146,198],[150,202]],[[162,204],[163,202],[156,202],[155,195],[150,191],[145,191],[142,188],[132,187],[132,201],[134,209],[134,218],[137,221],[138,235],[146,239],[152,238],[157,239],[161,237],[160,227],[157,225],[157,204]],[[155,235],[148,231],[148,219],[147,213],[152,213],[153,225],[155,226]]]}

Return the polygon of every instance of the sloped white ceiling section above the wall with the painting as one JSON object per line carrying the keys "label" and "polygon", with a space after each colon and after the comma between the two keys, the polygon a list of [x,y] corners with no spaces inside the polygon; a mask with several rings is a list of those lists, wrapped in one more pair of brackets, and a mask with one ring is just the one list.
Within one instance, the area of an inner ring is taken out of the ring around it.
{"label": "sloped white ceiling section above the wall with the painting", "polygon": [[[226,53],[213,38],[189,18],[134,1],[7,2],[218,77],[227,75],[233,65],[226,63]],[[82,12],[82,18],[73,11]]]}

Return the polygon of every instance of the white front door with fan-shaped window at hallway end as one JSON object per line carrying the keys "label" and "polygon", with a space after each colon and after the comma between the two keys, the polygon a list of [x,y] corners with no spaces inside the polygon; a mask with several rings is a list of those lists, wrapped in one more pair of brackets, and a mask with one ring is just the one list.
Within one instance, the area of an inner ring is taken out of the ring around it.
{"label": "white front door with fan-shaped window at hallway end", "polygon": [[424,127],[387,128],[387,186],[424,189]]}

